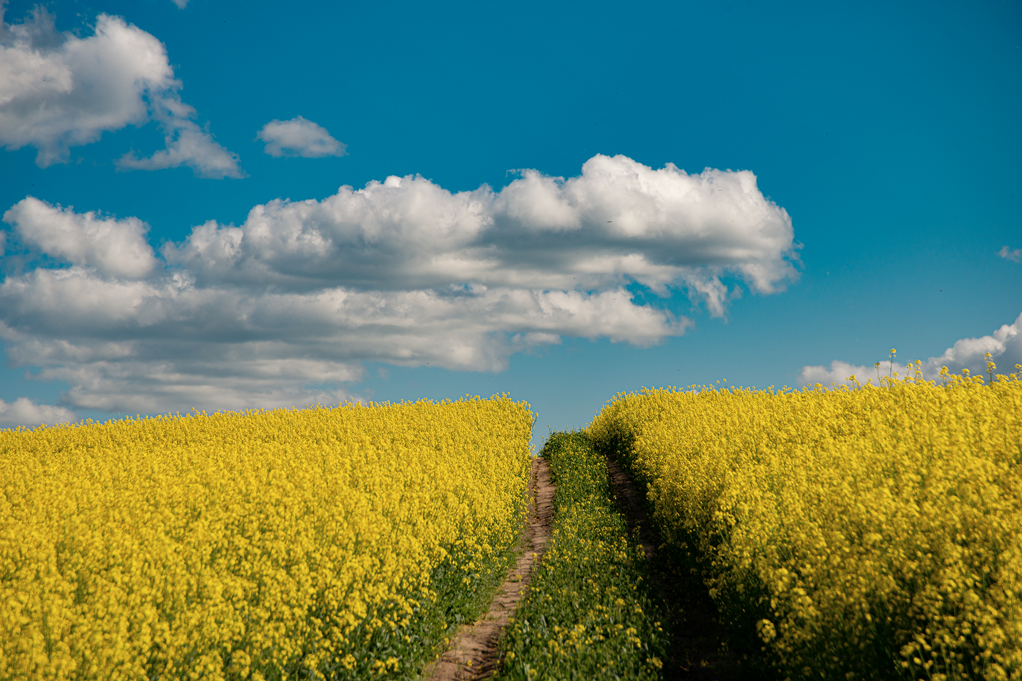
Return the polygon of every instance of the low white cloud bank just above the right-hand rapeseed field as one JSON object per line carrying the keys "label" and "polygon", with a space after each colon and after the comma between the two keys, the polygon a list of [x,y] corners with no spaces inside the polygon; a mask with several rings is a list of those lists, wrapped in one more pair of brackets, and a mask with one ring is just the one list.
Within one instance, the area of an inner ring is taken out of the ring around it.
{"label": "low white cloud bank just above the right-hand rapeseed field", "polygon": [[[945,366],[950,373],[961,373],[963,369],[968,369],[974,376],[985,376],[986,353],[992,355],[992,360],[997,365],[995,373],[1009,374],[1016,371],[1015,365],[1022,364],[1022,314],[1014,323],[1003,324],[990,335],[956,340],[955,345],[945,350],[942,355],[931,357],[923,362],[923,378],[938,380],[940,370]],[[903,364],[884,360],[880,363],[879,376],[892,375],[893,372],[905,376],[907,371],[909,370]],[[848,380],[848,376],[852,374],[862,383],[870,378],[873,379],[874,384],[877,383],[878,369],[875,366],[856,366],[840,360],[831,362],[829,368],[826,366],[803,366],[798,378],[802,385],[823,383],[829,387],[832,382],[838,385],[850,385],[851,381]]]}

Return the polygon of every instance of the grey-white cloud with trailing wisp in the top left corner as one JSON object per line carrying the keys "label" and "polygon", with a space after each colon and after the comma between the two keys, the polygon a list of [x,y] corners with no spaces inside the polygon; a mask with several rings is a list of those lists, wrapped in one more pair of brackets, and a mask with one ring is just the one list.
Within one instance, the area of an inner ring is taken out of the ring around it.
{"label": "grey-white cloud with trailing wisp in the top left corner", "polygon": [[92,36],[59,33],[37,7],[20,24],[5,24],[0,4],[0,144],[35,146],[45,168],[66,163],[73,146],[105,131],[156,121],[167,149],[149,158],[129,152],[126,170],[189,166],[202,177],[241,177],[231,153],[191,119],[167,50],[152,35],[119,16],[100,14]]}

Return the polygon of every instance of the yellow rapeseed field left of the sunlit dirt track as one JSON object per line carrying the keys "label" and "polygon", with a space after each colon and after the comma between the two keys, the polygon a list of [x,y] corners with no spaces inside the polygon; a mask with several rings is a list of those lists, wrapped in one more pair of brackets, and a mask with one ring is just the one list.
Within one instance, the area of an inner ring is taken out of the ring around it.
{"label": "yellow rapeseed field left of the sunlit dirt track", "polygon": [[517,537],[531,424],[495,397],[0,432],[0,678],[414,676]]}

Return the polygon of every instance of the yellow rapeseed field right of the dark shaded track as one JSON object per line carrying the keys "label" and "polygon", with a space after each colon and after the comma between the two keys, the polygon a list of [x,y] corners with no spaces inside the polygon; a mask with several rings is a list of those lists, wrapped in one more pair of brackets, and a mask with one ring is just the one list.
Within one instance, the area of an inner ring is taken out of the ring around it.
{"label": "yellow rapeseed field right of the dark shaded track", "polygon": [[915,368],[857,390],[644,390],[590,426],[732,645],[758,641],[782,678],[1022,678],[1022,380]]}

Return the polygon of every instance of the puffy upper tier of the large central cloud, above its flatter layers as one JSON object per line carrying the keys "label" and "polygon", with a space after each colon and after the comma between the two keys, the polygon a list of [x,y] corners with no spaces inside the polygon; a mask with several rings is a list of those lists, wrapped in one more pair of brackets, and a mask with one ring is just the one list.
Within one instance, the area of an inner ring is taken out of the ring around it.
{"label": "puffy upper tier of the large central cloud, above its flatter layers", "polygon": [[797,276],[792,236],[787,213],[748,171],[687,175],[597,155],[578,177],[525,171],[500,192],[452,194],[408,176],[341,187],[322,201],[278,199],[252,209],[240,228],[197,227],[164,256],[202,285],[593,290],[639,281],[665,292],[683,284],[723,315],[724,274],[760,293]]}

